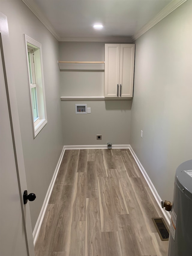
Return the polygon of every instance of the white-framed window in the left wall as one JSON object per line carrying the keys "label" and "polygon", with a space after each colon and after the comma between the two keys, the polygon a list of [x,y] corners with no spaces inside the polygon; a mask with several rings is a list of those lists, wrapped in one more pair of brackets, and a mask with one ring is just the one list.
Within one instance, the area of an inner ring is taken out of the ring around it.
{"label": "white-framed window in the left wall", "polygon": [[47,123],[41,44],[25,36],[33,137]]}

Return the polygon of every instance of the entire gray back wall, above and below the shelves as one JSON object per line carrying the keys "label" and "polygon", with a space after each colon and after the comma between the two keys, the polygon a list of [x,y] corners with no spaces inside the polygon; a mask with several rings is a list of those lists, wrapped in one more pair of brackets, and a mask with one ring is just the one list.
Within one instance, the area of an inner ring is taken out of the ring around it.
{"label": "entire gray back wall, above and below the shelves", "polygon": [[[104,46],[104,42],[59,42],[59,60],[104,61]],[[104,96],[103,64],[60,68],[61,96]],[[75,114],[75,104],[87,104],[91,114]],[[62,101],[64,145],[130,144],[131,104],[132,100]],[[97,134],[102,140],[96,140]]]}

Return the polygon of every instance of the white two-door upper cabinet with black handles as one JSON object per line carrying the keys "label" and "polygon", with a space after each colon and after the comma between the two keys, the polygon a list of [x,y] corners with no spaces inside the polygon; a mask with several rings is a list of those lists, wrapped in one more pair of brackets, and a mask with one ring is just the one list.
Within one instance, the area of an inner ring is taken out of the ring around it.
{"label": "white two-door upper cabinet with black handles", "polygon": [[105,97],[133,97],[135,44],[105,44]]}

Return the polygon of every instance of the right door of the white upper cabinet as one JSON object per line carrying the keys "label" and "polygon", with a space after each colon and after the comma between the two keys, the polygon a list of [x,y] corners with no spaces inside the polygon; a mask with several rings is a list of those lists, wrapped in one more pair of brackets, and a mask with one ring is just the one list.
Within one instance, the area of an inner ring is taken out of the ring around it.
{"label": "right door of the white upper cabinet", "polygon": [[120,47],[120,97],[133,97],[135,44]]}

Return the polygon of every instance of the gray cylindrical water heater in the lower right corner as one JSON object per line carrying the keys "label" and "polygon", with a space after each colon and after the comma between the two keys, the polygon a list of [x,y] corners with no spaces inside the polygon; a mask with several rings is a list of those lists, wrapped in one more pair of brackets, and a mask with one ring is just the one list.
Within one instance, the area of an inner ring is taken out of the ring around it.
{"label": "gray cylindrical water heater in the lower right corner", "polygon": [[168,256],[192,255],[192,160],[176,169]]}

